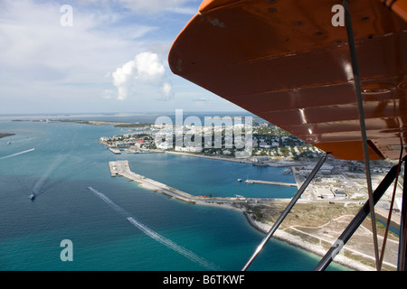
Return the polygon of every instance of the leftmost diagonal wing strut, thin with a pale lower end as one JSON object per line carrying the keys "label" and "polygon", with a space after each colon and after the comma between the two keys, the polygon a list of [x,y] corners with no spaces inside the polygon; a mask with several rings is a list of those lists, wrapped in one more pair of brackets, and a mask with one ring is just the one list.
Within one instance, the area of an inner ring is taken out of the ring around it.
{"label": "leftmost diagonal wing strut, thin with a pale lower end", "polygon": [[249,268],[249,266],[251,266],[251,263],[259,255],[259,253],[261,252],[264,245],[266,245],[266,243],[270,240],[270,238],[273,236],[274,232],[277,230],[277,228],[279,228],[279,225],[281,225],[283,220],[286,219],[287,215],[289,214],[289,211],[297,203],[297,201],[301,197],[302,193],[307,189],[309,182],[311,182],[314,179],[315,175],[317,174],[317,172],[319,171],[321,166],[327,160],[328,155],[329,155],[329,153],[327,153],[323,157],[321,157],[321,159],[315,166],[314,170],[312,170],[312,172],[308,175],[307,180],[305,182],[303,182],[301,187],[298,189],[296,195],[289,202],[289,205],[287,206],[287,208],[282,212],[281,216],[279,216],[279,219],[277,219],[276,222],[274,223],[274,225],[270,228],[270,231],[267,234],[267,236],[265,238],[263,238],[263,240],[260,242],[260,245],[256,248],[254,253],[251,255],[251,257],[247,261],[246,265],[243,266],[243,268],[241,269],[241,271],[246,271]]}

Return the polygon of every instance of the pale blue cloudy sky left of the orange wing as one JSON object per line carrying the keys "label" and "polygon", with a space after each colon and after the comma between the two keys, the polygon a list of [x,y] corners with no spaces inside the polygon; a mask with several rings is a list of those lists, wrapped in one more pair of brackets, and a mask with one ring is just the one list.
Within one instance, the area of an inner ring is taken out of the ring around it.
{"label": "pale blue cloudy sky left of the orange wing", "polygon": [[0,114],[241,111],[169,70],[200,4],[1,0]]}

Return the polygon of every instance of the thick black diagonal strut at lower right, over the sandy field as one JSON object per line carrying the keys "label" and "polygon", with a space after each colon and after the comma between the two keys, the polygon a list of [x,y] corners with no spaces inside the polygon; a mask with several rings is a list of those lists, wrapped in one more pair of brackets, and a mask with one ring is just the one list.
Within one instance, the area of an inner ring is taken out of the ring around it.
{"label": "thick black diagonal strut at lower right, over the sandy field", "polygon": [[[406,158],[407,158],[407,156],[404,156],[402,161],[405,162]],[[384,177],[383,181],[379,184],[379,186],[374,191],[374,196],[373,196],[374,204],[378,200],[380,200],[380,198],[382,198],[384,192],[389,188],[389,186],[392,184],[392,182],[396,178],[397,172],[398,172],[398,164],[396,164],[392,167],[392,169],[387,173],[387,175]],[[404,179],[404,181],[405,181],[405,179]],[[404,198],[404,199],[407,200],[407,198]],[[403,206],[403,208],[404,207],[405,206]],[[324,271],[327,268],[327,266],[329,266],[329,264],[334,260],[337,253],[339,253],[341,248],[345,246],[345,244],[349,240],[349,238],[351,238],[352,235],[355,233],[355,230],[357,228],[359,228],[360,225],[362,225],[364,219],[367,217],[367,215],[369,215],[369,213],[370,213],[370,205],[367,202],[365,202],[362,209],[359,210],[359,212],[356,214],[355,218],[345,228],[345,230],[341,234],[341,236],[339,236],[339,238],[337,238],[334,245],[327,251],[327,254],[321,259],[321,261],[319,261],[319,263],[315,267],[314,271]],[[402,228],[402,224],[400,226]]]}

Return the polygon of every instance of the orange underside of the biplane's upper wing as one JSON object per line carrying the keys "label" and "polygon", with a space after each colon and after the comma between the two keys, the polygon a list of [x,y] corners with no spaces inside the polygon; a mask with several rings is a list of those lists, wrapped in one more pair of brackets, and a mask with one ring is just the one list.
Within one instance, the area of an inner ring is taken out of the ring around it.
{"label": "orange underside of the biplane's upper wing", "polygon": [[[407,3],[349,2],[369,157],[396,159],[407,143]],[[171,70],[323,151],[363,160],[346,29],[332,23],[340,4],[204,0],[171,48]]]}

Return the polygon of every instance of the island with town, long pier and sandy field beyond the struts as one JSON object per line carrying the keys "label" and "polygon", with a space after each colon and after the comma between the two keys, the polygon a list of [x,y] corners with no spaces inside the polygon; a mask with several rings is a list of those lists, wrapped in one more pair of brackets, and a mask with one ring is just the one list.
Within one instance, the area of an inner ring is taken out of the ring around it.
{"label": "island with town, long pier and sandy field beyond the struts", "polygon": [[[188,147],[176,146],[175,142],[167,146],[156,144],[156,134],[162,127],[153,124],[128,127],[124,135],[100,137],[99,143],[106,145],[114,154],[186,154],[194,157],[222,160],[227,162],[249,163],[258,166],[279,166],[285,168],[284,173],[292,174],[299,188],[312,171],[322,155],[316,147],[306,144],[294,135],[289,135],[270,124],[253,126],[253,151],[247,158],[237,158],[238,151],[232,148],[208,148],[191,150]],[[194,127],[185,127],[184,134]],[[213,129],[204,128],[204,129]],[[223,131],[224,133],[224,128]],[[175,138],[174,138],[175,139]],[[222,136],[222,144],[225,138]],[[267,233],[272,224],[285,210],[289,199],[249,199],[244,196],[236,198],[219,198],[215,196],[194,196],[188,192],[169,188],[165,184],[145,178],[137,172],[131,172],[128,163],[109,163],[112,176],[121,175],[139,182],[142,186],[170,198],[187,201],[194,205],[217,206],[226,209],[240,210],[251,226]],[[376,187],[383,176],[394,165],[389,161],[372,162],[372,180]],[[241,182],[242,180],[237,180]],[[248,180],[246,180],[248,181]],[[257,180],[250,182],[267,183]],[[270,185],[276,185],[271,184]],[[385,221],[390,207],[391,193],[389,188],[375,208],[379,240],[383,240]],[[402,194],[398,185],[397,196]],[[368,200],[365,184],[364,163],[343,161],[329,156],[316,178],[308,186],[300,200],[281,224],[273,238],[279,238],[289,244],[306,249],[319,256],[324,256],[343,232],[355,214]],[[400,226],[400,210],[393,210],[391,225]],[[357,229],[336,262],[355,270],[374,270],[374,245],[371,232],[371,220],[365,219],[361,228]],[[398,236],[390,233],[383,261],[383,270],[392,271],[396,268],[398,254]]]}

